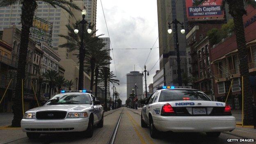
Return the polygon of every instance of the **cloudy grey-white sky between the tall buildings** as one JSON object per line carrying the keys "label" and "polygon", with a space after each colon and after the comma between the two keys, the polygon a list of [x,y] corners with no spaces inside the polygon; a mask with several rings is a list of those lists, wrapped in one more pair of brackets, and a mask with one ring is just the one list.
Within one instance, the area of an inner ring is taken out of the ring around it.
{"label": "cloudy grey-white sky between the tall buildings", "polygon": [[[156,48],[158,47],[158,40],[155,43],[158,38],[157,4],[156,0],[97,0],[96,29],[98,29],[97,34],[105,34],[103,37],[108,37],[108,34],[101,1],[114,49],[117,71],[115,71],[113,60],[110,69],[120,80],[117,91],[121,95],[122,102],[125,103],[126,73],[134,70],[134,64],[136,71],[142,71],[152,47],[146,62],[147,70],[150,70],[159,59],[159,50]],[[125,48],[138,48],[138,50],[125,50]],[[112,52],[111,57],[113,58]],[[153,75],[158,69],[159,62],[150,71],[147,85],[153,83]]]}

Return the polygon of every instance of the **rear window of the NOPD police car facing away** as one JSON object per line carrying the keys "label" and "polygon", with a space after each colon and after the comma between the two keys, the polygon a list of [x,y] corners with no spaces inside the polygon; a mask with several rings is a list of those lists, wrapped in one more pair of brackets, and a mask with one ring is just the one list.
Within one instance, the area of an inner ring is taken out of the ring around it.
{"label": "rear window of the NOPD police car facing away", "polygon": [[196,100],[196,101],[210,101],[210,99],[197,90],[187,89],[170,89],[161,91],[160,101],[181,101],[181,100]]}

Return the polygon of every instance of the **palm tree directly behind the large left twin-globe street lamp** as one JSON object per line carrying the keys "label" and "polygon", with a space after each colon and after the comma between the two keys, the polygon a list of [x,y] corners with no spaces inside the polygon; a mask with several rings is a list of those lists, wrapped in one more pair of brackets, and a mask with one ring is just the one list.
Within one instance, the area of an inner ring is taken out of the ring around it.
{"label": "palm tree directly behind the large left twin-globe street lamp", "polygon": [[[77,21],[78,22],[78,21]],[[63,37],[67,40],[66,43],[60,45],[60,48],[68,48],[69,52],[77,50],[78,53],[78,59],[79,59],[79,80],[78,80],[78,89],[83,89],[83,79],[84,79],[84,61],[85,61],[85,55],[88,54],[88,49],[95,48],[95,45],[97,45],[98,42],[98,36],[93,37],[96,33],[96,31],[92,31],[91,34],[87,33],[86,27],[84,35],[82,35],[82,26],[81,25],[75,25],[73,23],[72,25],[68,24],[66,25],[68,29],[68,35],[62,35],[60,34],[59,37]],[[92,25],[93,27],[93,25]],[[75,34],[74,29],[77,28],[80,33]],[[99,35],[101,36],[101,35]],[[84,37],[84,48],[81,49],[81,39]]]}

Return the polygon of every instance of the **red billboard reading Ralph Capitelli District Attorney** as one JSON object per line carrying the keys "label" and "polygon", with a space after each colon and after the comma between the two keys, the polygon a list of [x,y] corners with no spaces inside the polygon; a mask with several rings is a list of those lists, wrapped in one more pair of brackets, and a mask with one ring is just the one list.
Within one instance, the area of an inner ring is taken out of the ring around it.
{"label": "red billboard reading Ralph Capitelli District Attorney", "polygon": [[197,0],[186,0],[188,21],[223,20],[224,13],[221,9],[222,0],[205,0],[201,5],[194,7]]}

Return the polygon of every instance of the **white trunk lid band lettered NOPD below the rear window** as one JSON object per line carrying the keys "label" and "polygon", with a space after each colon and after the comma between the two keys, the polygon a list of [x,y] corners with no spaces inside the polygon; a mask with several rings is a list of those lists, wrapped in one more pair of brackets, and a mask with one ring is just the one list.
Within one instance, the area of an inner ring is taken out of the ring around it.
{"label": "white trunk lid band lettered NOPD below the rear window", "polygon": [[225,107],[225,103],[219,101],[165,101],[161,104],[169,103],[172,107]]}

